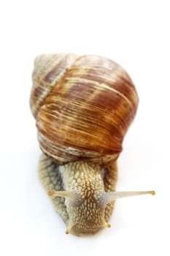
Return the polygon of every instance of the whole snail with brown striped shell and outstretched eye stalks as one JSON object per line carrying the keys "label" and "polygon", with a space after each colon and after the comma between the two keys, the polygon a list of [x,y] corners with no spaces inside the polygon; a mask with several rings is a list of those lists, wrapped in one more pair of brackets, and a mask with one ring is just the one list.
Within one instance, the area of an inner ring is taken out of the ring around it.
{"label": "whole snail with brown striped shell and outstretched eye stalks", "polygon": [[39,177],[66,233],[110,227],[115,200],[154,191],[115,192],[117,158],[139,103],[123,67],[102,56],[37,56],[31,112],[42,149]]}

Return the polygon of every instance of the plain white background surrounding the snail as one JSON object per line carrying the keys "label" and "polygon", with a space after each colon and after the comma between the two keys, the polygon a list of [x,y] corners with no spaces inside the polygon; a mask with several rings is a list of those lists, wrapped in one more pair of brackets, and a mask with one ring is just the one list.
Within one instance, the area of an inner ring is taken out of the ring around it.
{"label": "plain white background surrounding the snail", "polygon": [[[1,1],[0,255],[170,255],[169,1]],[[117,190],[156,195],[117,200],[112,227],[66,235],[39,183],[29,109],[40,53],[107,56],[133,78],[140,104],[123,143]]]}

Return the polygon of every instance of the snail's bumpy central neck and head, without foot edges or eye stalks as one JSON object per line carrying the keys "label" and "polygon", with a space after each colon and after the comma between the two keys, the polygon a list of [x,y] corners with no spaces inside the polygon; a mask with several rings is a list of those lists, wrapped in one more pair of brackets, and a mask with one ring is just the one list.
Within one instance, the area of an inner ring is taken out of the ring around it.
{"label": "snail's bumpy central neck and head, without foot edges or eye stalks", "polygon": [[[98,192],[104,193],[102,168],[88,162],[72,162],[59,168],[63,178],[66,209],[69,213],[66,233],[96,233],[109,227]],[[62,196],[62,195],[61,195]],[[64,196],[64,195],[63,195]]]}

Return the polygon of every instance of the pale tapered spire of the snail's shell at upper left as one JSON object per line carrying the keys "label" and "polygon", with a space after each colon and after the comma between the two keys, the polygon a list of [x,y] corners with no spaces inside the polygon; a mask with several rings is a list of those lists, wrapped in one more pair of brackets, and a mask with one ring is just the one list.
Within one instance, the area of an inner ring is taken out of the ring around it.
{"label": "pale tapered spire of the snail's shell at upper left", "polygon": [[77,55],[72,53],[45,54],[36,57],[30,97],[31,111],[35,118],[47,94],[50,93],[54,84],[61,79],[63,73],[69,69],[76,58]]}

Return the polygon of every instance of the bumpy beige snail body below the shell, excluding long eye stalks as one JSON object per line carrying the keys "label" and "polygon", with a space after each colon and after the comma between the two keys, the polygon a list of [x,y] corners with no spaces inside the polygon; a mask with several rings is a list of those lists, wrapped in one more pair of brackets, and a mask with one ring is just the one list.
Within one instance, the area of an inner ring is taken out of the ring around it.
{"label": "bumpy beige snail body below the shell, excluding long eye stalks", "polygon": [[73,162],[59,166],[42,154],[39,161],[39,177],[47,192],[56,190],[80,193],[79,198],[75,200],[51,197],[55,210],[66,222],[66,233],[80,236],[82,233],[96,233],[101,227],[109,227],[107,222],[112,215],[115,201],[108,203],[104,208],[98,206],[94,195],[96,191],[115,191],[115,162],[106,169],[91,162]]}

